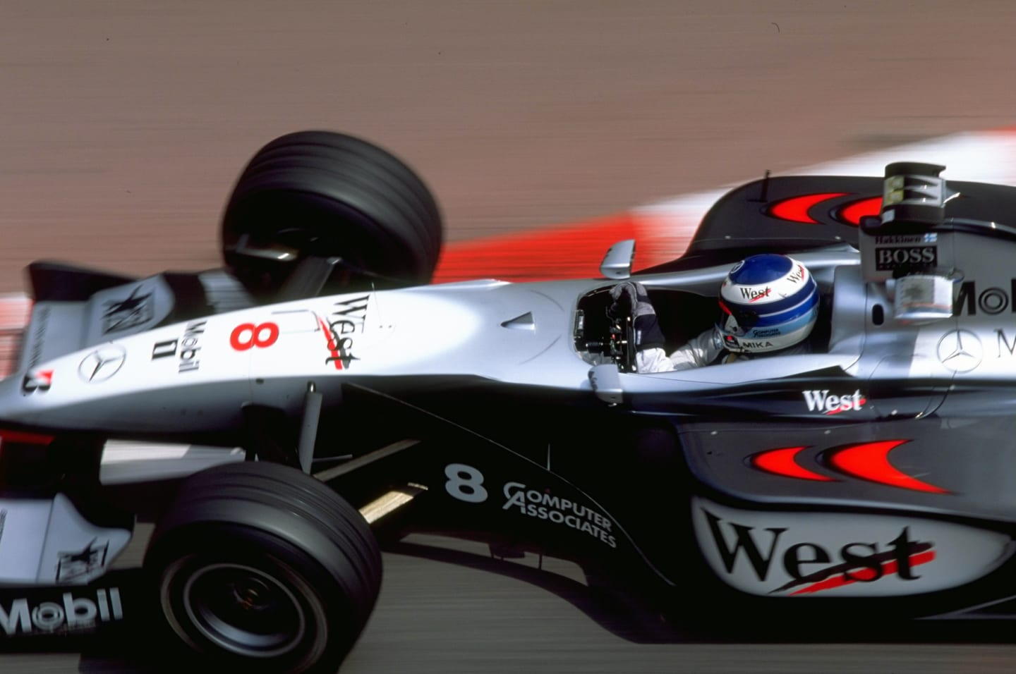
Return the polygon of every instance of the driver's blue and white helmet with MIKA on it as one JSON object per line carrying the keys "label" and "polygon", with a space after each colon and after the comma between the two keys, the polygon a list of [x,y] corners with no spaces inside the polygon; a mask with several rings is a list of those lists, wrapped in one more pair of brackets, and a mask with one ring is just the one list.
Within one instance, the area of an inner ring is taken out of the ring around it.
{"label": "driver's blue and white helmet with MIKA on it", "polygon": [[785,255],[745,258],[719,288],[716,325],[723,348],[738,353],[778,351],[815,327],[819,289],[805,265]]}

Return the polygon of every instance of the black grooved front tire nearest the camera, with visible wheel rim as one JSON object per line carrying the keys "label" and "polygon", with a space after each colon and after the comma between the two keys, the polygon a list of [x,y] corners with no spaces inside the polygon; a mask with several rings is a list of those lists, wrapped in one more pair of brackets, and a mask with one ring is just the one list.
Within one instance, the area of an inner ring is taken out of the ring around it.
{"label": "black grooved front tire nearest the camera, with visible wheel rim", "polygon": [[334,672],[381,586],[360,513],[299,470],[263,462],[188,478],[144,567],[168,645],[221,671]]}

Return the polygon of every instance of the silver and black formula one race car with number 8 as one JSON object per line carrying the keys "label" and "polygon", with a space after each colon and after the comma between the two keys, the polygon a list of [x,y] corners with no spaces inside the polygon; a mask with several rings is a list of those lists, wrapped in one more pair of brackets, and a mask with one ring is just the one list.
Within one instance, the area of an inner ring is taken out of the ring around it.
{"label": "silver and black formula one race car with number 8", "polygon": [[[0,627],[135,611],[204,661],[334,671],[379,541],[408,531],[570,559],[696,619],[1012,617],[1016,188],[942,170],[767,177],[634,276],[622,242],[600,279],[430,285],[423,182],[357,138],[283,136],[228,202],[225,269],[28,267],[0,381]],[[760,252],[818,282],[810,352],[635,372],[619,281],[676,346]],[[128,585],[112,562],[138,521]]]}

